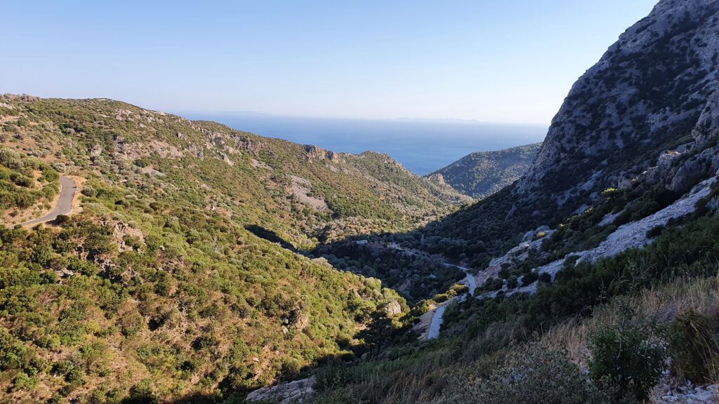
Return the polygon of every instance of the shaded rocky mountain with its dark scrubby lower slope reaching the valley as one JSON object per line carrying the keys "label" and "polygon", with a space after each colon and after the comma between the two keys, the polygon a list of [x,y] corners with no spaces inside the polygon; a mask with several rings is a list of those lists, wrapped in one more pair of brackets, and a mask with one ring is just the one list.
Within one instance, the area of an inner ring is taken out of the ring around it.
{"label": "shaded rocky mountain with its dark scrubby lower slope reaching the valley", "polygon": [[[426,235],[480,265],[524,232],[596,206],[608,188],[631,192],[641,219],[713,176],[718,32],[719,1],[659,2],[574,84],[526,175]],[[656,206],[641,211],[640,199]]]}

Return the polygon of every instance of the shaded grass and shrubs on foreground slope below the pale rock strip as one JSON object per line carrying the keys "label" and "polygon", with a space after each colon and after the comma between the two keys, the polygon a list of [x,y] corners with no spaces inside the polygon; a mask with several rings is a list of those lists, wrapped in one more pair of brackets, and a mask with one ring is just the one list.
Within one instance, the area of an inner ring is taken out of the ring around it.
{"label": "shaded grass and shrubs on foreground slope below the pale rock strip", "polygon": [[567,266],[535,295],[454,303],[444,339],[326,368],[321,386],[341,380],[350,403],[545,403],[554,392],[557,403],[632,403],[667,358],[672,375],[717,382],[719,216],[705,208],[716,198],[650,247]]}

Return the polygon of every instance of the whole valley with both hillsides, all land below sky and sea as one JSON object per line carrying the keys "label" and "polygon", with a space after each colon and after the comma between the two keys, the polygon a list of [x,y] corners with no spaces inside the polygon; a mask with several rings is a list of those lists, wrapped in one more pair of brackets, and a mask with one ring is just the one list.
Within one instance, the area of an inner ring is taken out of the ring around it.
{"label": "whole valley with both hillsides, all land below sky and sea", "polygon": [[546,139],[420,177],[0,96],[0,403],[719,400],[719,1],[661,0]]}

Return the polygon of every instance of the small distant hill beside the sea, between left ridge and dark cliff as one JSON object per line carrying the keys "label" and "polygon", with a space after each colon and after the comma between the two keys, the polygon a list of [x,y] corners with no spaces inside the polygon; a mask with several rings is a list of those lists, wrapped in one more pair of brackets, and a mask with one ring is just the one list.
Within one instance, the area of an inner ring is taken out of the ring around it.
{"label": "small distant hill beside the sea, between left ridge and dark cliff", "polygon": [[446,183],[472,198],[484,199],[521,178],[539,147],[541,143],[470,153],[426,178],[434,183]]}

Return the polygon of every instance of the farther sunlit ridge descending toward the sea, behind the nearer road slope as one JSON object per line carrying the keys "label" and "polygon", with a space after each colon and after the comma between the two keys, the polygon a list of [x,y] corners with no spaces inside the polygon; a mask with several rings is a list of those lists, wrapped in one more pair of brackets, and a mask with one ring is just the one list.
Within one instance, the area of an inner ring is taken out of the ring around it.
{"label": "farther sunlit ridge descending toward the sea, behind the nearer road slope", "polygon": [[264,226],[296,247],[315,244],[337,221],[409,228],[468,201],[387,155],[334,153],[111,100],[2,101],[0,140],[9,146],[116,183],[178,182],[162,191]]}

